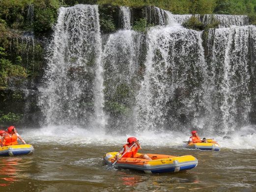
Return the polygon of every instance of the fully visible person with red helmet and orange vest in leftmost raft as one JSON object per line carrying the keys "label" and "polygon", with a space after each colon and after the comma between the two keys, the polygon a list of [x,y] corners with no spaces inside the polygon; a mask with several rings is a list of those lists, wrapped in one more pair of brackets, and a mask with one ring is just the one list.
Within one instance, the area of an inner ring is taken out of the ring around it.
{"label": "fully visible person with red helmet and orange vest in leftmost raft", "polygon": [[25,140],[17,133],[16,128],[14,126],[10,126],[7,128],[7,132],[2,134],[1,146],[17,145],[17,138],[26,144]]}

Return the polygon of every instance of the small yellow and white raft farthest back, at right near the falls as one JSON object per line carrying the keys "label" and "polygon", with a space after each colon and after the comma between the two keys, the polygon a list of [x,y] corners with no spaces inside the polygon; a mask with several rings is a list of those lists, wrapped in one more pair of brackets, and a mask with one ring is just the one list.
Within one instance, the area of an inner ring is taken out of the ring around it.
{"label": "small yellow and white raft farthest back, at right near the falls", "polygon": [[212,151],[221,150],[221,146],[212,139],[207,139],[207,142],[190,143],[186,147],[190,149],[200,149],[200,150],[212,150]]}

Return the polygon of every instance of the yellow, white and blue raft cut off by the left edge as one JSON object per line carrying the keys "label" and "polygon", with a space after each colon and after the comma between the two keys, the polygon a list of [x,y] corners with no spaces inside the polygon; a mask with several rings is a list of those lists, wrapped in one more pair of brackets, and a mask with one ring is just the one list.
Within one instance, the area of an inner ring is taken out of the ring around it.
{"label": "yellow, white and blue raft cut off by the left edge", "polygon": [[0,156],[28,155],[33,152],[34,147],[29,144],[0,147]]}

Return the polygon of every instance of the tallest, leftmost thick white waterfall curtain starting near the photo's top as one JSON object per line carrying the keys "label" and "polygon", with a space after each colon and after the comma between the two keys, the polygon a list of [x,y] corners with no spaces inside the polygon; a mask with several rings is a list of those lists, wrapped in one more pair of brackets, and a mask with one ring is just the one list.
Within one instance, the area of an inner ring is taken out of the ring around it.
{"label": "tallest, leftmost thick white waterfall curtain starting near the photo's top", "polygon": [[61,7],[40,88],[47,124],[104,128],[101,53],[98,6]]}

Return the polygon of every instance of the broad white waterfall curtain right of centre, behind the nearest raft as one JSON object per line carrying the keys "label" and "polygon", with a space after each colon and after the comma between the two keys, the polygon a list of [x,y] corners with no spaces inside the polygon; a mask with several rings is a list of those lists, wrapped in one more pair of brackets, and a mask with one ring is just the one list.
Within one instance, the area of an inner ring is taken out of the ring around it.
{"label": "broad white waterfall curtain right of centre, behind the nearest raft", "polygon": [[153,131],[197,120],[205,62],[201,33],[182,27],[148,31],[145,75],[137,95],[137,127]]}

